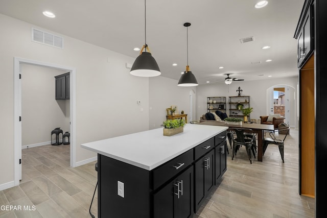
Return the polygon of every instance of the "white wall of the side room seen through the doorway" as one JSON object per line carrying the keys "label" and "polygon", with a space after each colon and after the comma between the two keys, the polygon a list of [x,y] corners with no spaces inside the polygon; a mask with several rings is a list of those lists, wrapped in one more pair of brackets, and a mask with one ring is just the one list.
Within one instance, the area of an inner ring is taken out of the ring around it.
{"label": "white wall of the side room seen through the doorway", "polygon": [[49,143],[57,127],[69,132],[69,100],[55,99],[54,77],[66,71],[29,64],[20,69],[22,146]]}

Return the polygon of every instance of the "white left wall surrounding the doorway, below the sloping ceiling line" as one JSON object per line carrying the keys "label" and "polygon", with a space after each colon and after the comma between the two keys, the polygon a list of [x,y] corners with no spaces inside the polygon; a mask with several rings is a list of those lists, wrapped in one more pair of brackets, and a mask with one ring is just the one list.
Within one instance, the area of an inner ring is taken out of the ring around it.
{"label": "white left wall surrounding the doorway, below the sloping ceiling line", "polygon": [[96,156],[81,143],[149,129],[149,79],[125,67],[135,58],[58,33],[63,50],[35,43],[31,28],[42,28],[2,14],[0,27],[0,185],[14,180],[14,57],[76,68],[76,162]]}

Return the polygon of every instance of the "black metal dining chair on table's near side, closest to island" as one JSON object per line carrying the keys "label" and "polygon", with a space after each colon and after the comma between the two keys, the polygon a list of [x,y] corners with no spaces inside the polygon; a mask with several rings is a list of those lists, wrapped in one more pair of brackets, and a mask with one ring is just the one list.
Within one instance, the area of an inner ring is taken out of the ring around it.
{"label": "black metal dining chair on table's near side, closest to island", "polygon": [[254,151],[254,146],[253,146],[254,137],[246,138],[244,136],[245,131],[248,133],[254,133],[253,130],[251,130],[251,129],[235,129],[234,130],[237,138],[233,138],[233,140],[232,140],[233,141],[233,151],[232,151],[231,159],[233,160],[234,155],[236,155],[236,153],[240,149],[240,147],[244,146],[246,149],[247,156],[249,157],[250,163],[252,164],[251,152],[253,153],[253,156],[255,158],[255,151]]}

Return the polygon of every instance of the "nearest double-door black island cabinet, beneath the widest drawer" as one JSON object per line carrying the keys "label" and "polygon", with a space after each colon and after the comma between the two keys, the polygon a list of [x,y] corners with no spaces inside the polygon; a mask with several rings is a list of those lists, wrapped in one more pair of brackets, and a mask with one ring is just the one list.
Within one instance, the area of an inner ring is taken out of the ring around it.
{"label": "nearest double-door black island cabinet, beneath the widest drawer", "polygon": [[154,218],[193,217],[193,166],[154,194],[153,210]]}

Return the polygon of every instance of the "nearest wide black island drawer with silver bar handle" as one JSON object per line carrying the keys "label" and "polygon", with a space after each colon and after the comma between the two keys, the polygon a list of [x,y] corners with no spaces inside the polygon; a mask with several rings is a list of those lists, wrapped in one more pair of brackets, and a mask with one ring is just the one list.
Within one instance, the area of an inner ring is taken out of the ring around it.
{"label": "nearest wide black island drawer with silver bar handle", "polygon": [[158,188],[160,185],[173,178],[180,173],[183,169],[191,165],[193,162],[193,149],[187,151],[171,161],[158,166],[153,170],[153,189]]}

